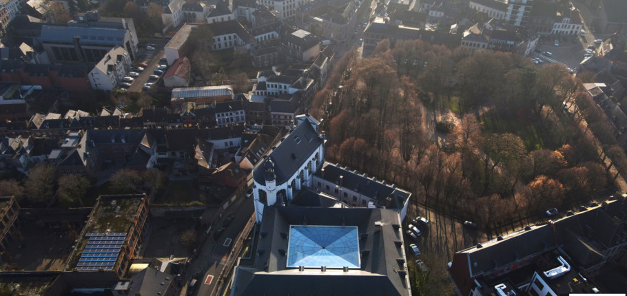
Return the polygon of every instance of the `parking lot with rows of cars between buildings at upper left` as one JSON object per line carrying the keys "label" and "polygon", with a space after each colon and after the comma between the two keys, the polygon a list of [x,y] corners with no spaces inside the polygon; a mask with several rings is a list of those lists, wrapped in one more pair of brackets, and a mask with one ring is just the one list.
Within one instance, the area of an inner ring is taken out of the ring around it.
{"label": "parking lot with rows of cars between buildings at upper left", "polygon": [[[159,66],[159,59],[165,57],[165,52],[163,51],[163,47],[167,40],[165,39],[146,39],[142,43],[140,43],[140,48],[138,50],[137,56],[138,58],[133,63],[133,66],[138,65],[138,63],[146,63],[148,66],[143,67],[143,72],[138,72],[139,76],[135,78],[135,80],[131,83],[131,86],[127,89],[127,92],[141,92],[144,83],[152,82],[156,83],[158,80],[149,78],[150,75],[154,74],[154,70]],[[146,46],[148,44],[156,45],[155,50],[147,50]],[[165,74],[167,70],[163,71]],[[160,79],[163,77],[161,74]]]}

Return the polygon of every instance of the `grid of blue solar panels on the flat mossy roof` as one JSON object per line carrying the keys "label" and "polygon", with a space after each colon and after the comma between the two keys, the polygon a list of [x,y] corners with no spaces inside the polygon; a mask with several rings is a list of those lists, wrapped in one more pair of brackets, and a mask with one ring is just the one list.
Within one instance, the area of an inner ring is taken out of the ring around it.
{"label": "grid of blue solar panels on the flat mossy roof", "polygon": [[111,271],[120,253],[126,233],[88,233],[87,246],[76,264],[79,271]]}

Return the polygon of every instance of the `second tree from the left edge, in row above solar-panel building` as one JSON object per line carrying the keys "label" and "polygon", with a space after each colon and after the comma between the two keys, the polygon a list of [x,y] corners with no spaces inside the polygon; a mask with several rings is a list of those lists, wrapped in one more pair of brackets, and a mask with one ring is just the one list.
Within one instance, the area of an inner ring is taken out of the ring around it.
{"label": "second tree from the left edge, in row above solar-panel building", "polygon": [[24,182],[24,189],[28,200],[45,202],[54,195],[54,167],[45,162],[39,162],[28,174]]}

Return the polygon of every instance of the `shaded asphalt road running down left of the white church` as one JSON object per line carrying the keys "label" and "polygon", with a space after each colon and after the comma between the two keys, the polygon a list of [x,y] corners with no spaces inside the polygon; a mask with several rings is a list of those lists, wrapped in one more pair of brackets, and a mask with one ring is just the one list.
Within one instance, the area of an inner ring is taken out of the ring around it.
{"label": "shaded asphalt road running down left of the white church", "polygon": [[[218,275],[225,268],[227,262],[227,255],[234,244],[236,237],[241,233],[242,229],[254,213],[253,198],[246,198],[243,194],[240,196],[234,204],[230,205],[223,213],[222,218],[216,222],[212,227],[212,232],[209,233],[207,241],[204,244],[198,258],[193,262],[192,266],[188,269],[188,273],[191,275],[201,273],[202,277],[198,278],[198,288],[194,295],[209,296],[212,290],[218,284]],[[234,220],[227,226],[225,232],[220,235],[218,240],[213,239],[213,231],[219,228],[225,218],[228,215],[235,215]],[[228,241],[230,240],[230,244]],[[209,279],[209,280],[207,280]],[[206,282],[209,282],[207,284]]]}

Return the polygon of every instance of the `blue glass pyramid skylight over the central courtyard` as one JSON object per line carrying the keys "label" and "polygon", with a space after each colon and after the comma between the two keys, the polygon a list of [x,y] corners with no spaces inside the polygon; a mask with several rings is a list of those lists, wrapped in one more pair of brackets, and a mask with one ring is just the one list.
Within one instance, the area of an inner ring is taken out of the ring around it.
{"label": "blue glass pyramid skylight over the central courtyard", "polygon": [[287,267],[359,268],[357,226],[289,227]]}

